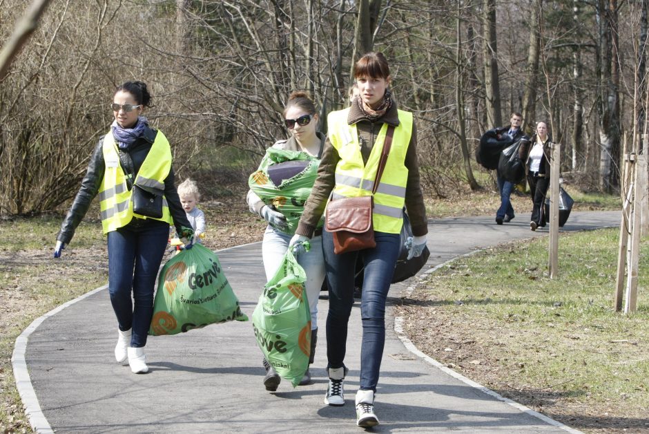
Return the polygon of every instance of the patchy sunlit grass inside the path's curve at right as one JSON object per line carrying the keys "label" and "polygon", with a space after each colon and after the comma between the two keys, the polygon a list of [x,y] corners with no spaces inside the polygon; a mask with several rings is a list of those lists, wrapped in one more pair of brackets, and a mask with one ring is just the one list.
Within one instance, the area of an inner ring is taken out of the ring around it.
{"label": "patchy sunlit grass inside the path's curve at right", "polygon": [[[432,357],[523,404],[552,395],[541,405],[554,405],[553,417],[571,405],[588,406],[590,414],[599,409],[599,414],[644,417],[649,257],[640,256],[637,312],[614,312],[618,238],[619,229],[561,234],[556,279],[548,277],[545,237],[453,261],[429,276],[414,296],[425,306],[422,321],[439,324],[434,333],[440,343],[423,341],[416,330],[411,339]],[[641,248],[648,242],[643,239]],[[462,325],[453,330],[449,323]],[[471,344],[462,351],[454,345],[458,339]],[[476,368],[469,359],[490,368]]]}

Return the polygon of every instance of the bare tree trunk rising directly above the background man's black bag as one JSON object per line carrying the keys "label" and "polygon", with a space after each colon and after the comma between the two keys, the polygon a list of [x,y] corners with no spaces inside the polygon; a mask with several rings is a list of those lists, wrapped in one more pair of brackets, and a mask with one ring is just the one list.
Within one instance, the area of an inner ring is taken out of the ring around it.
{"label": "bare tree trunk rising directly above the background man's black bag", "polygon": [[485,102],[487,124],[501,126],[501,95],[498,84],[498,47],[496,44],[496,0],[483,0]]}

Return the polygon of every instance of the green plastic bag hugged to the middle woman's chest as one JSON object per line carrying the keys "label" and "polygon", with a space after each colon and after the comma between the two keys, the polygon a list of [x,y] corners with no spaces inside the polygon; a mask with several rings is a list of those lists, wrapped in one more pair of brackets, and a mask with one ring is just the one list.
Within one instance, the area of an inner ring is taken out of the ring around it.
{"label": "green plastic bag hugged to the middle woman's chest", "polygon": [[259,169],[248,179],[250,189],[286,217],[288,234],[298,229],[304,203],[318,176],[318,164],[320,160],[306,152],[269,148]]}

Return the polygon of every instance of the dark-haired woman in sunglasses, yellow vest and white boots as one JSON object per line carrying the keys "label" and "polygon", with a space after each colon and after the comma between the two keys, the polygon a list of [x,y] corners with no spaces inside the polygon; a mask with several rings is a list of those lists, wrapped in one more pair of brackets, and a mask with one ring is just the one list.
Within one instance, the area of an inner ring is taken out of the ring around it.
{"label": "dark-haired woman in sunglasses, yellow vest and white boots", "polygon": [[143,82],[126,82],[116,89],[110,104],[115,121],[99,138],[54,252],[55,258],[61,256],[99,194],[101,225],[108,236],[108,292],[117,317],[115,359],[128,360],[136,374],[148,372],[144,346],[169,225],[175,225],[187,247],[193,238],[174,185],[169,142],[142,116],[144,107],[151,106]]}

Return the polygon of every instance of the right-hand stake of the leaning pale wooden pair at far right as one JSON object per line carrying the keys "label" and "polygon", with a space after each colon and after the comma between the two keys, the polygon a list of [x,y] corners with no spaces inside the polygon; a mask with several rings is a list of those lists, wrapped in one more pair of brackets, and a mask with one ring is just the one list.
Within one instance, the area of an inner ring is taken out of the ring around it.
{"label": "right-hand stake of the leaning pale wooden pair at far right", "polygon": [[624,313],[635,312],[637,308],[638,299],[638,262],[640,256],[640,216],[641,210],[641,196],[646,194],[647,185],[639,184],[641,176],[639,174],[640,168],[646,169],[647,155],[636,155],[635,173],[633,189],[633,217],[631,225],[631,255],[628,265],[628,278],[626,279],[626,304],[624,305]]}

